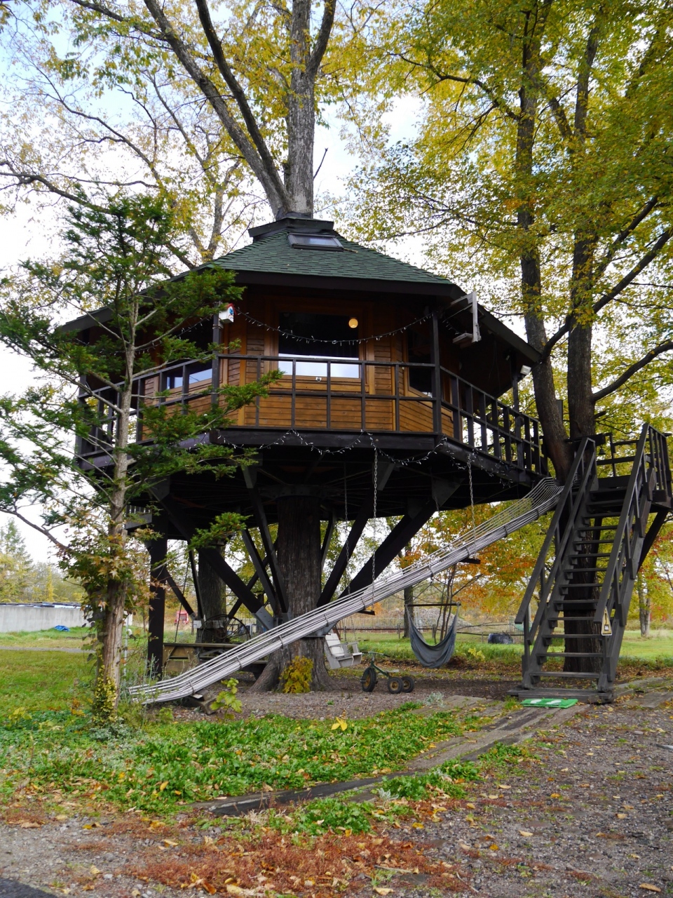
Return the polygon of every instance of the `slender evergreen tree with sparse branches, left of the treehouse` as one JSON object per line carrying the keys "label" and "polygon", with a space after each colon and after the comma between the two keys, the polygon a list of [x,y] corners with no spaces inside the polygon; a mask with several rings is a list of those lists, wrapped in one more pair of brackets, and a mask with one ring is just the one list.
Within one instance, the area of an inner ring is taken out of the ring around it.
{"label": "slender evergreen tree with sparse branches, left of the treehouse", "polygon": [[[225,386],[207,410],[185,414],[158,401],[161,393],[142,401],[143,374],[184,358],[212,365],[214,348],[197,346],[190,329],[238,295],[232,275],[205,269],[168,279],[180,227],[161,198],[70,207],[66,225],[59,260],[26,262],[24,277],[4,285],[0,341],[31,358],[48,384],[0,401],[0,508],[46,533],[86,590],[101,640],[96,702],[113,713],[124,616],[139,588],[127,552],[127,506],[173,471],[231,472],[231,451],[193,445],[193,438],[225,427],[229,411],[265,390],[262,383]],[[83,330],[97,337],[89,342],[81,330],[58,328],[66,315],[83,316]],[[210,382],[205,390],[211,394]],[[108,463],[88,462],[87,446]],[[43,506],[41,524],[24,511],[35,503]],[[221,515],[213,538],[239,524],[238,515]],[[59,525],[69,528],[68,539],[54,532]],[[207,535],[200,534],[202,544]]]}

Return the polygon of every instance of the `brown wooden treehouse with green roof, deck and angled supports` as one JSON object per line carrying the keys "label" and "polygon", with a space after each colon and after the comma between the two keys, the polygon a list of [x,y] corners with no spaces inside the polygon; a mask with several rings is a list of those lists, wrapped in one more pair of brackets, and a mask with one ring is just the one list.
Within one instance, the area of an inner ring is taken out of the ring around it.
{"label": "brown wooden treehouse with green roof, deck and angled supports", "polygon": [[[247,515],[252,582],[220,552],[200,555],[236,596],[227,615],[243,605],[269,628],[337,594],[371,518],[399,520],[342,591],[371,583],[436,511],[525,495],[546,474],[546,457],[538,421],[518,401],[538,354],[475,295],[345,240],[328,221],[288,215],[249,233],[248,246],[214,262],[235,272],[240,302],[191,324],[191,339],[220,351],[138,380],[136,438],[148,404],[205,409],[223,384],[282,373],[230,427],[204,435],[254,449],[255,465],[220,480],[173,476],[147,496],[164,541],[188,540],[223,511]],[[97,339],[91,318],[67,327]],[[101,406],[111,398],[109,389],[97,395]],[[107,463],[105,438],[103,427],[80,442],[81,464]],[[336,521],[351,529],[322,577]],[[159,563],[162,540],[153,546]],[[167,571],[162,578],[179,593]],[[153,656],[162,629],[159,590]]]}

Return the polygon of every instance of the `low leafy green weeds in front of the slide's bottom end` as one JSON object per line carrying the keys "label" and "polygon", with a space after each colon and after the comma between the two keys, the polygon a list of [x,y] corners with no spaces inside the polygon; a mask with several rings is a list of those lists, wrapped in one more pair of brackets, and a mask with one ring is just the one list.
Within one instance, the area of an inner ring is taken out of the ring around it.
{"label": "low leafy green weeds in front of the slide's bottom end", "polygon": [[459,718],[403,708],[348,722],[269,715],[198,723],[123,716],[92,726],[89,714],[42,711],[5,718],[0,727],[0,799],[23,796],[105,801],[170,813],[176,806],[262,788],[305,788],[401,767],[433,742],[459,735]]}

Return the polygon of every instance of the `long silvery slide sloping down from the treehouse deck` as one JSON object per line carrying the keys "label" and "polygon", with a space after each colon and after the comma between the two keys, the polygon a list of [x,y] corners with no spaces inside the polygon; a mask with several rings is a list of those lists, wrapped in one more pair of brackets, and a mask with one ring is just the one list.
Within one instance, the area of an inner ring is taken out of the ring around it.
{"label": "long silvery slide sloping down from the treehouse deck", "polygon": [[540,480],[528,496],[513,502],[511,506],[479,524],[474,530],[463,533],[443,549],[416,561],[408,568],[384,575],[356,593],[346,595],[312,612],[302,614],[293,621],[270,629],[267,633],[243,643],[240,648],[232,648],[212,661],[185,671],[184,674],[152,685],[134,686],[129,692],[135,700],[153,704],[184,699],[195,692],[203,691],[207,686],[235,674],[242,667],[259,661],[278,648],[289,646],[297,639],[319,632],[328,632],[350,614],[362,612],[375,602],[382,602],[391,595],[401,593],[405,586],[421,583],[449,568],[450,565],[474,556],[491,543],[502,540],[510,533],[545,515],[556,505],[562,491],[563,487],[552,478]]}

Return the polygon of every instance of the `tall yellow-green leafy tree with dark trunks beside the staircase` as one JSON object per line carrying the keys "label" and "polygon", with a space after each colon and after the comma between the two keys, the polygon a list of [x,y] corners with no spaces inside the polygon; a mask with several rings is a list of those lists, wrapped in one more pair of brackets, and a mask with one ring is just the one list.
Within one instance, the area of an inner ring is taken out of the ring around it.
{"label": "tall yellow-green leafy tree with dark trunks beside the staircase", "polygon": [[355,179],[360,222],[379,238],[425,233],[452,277],[522,316],[563,478],[569,439],[601,418],[633,426],[624,402],[656,416],[652,379],[671,382],[671,4],[440,0],[397,13],[382,71],[392,95],[418,97],[417,134],[372,148]]}

